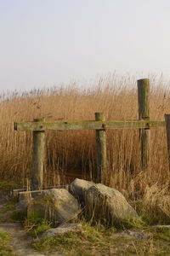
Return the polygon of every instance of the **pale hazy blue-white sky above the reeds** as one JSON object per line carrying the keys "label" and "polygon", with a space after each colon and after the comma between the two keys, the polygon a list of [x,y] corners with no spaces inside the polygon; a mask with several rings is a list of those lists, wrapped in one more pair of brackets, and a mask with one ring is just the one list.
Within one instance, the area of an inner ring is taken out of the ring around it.
{"label": "pale hazy blue-white sky above the reeds", "polygon": [[169,0],[0,0],[0,91],[170,80]]}

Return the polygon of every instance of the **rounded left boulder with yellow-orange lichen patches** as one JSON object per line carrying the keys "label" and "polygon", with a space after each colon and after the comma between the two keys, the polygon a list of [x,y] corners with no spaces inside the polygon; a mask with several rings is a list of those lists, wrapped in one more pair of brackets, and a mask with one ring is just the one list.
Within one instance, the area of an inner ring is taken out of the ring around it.
{"label": "rounded left boulder with yellow-orange lichen patches", "polygon": [[47,189],[31,200],[31,212],[57,226],[77,218],[81,210],[77,199],[66,189]]}

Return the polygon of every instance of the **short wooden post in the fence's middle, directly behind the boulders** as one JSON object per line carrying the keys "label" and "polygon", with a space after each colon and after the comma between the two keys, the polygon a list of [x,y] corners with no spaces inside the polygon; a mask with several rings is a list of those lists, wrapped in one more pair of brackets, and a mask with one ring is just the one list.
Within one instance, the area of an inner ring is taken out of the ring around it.
{"label": "short wooden post in the fence's middle, directly behind the boulders", "polygon": [[[95,113],[96,121],[105,121],[104,113]],[[96,130],[96,150],[97,150],[97,173],[96,182],[105,183],[105,174],[107,168],[106,160],[106,137],[105,128],[102,130]]]}

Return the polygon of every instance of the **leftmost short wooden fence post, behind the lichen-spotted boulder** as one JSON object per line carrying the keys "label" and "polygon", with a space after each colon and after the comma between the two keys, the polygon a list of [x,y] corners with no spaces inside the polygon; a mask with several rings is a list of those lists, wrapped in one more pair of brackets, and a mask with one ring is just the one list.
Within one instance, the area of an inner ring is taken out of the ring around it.
{"label": "leftmost short wooden fence post, behind the lichen-spotted boulder", "polygon": [[[45,119],[34,119],[34,122],[40,122],[40,121],[45,121]],[[45,138],[45,131],[33,131],[31,190],[42,189],[44,138]]]}

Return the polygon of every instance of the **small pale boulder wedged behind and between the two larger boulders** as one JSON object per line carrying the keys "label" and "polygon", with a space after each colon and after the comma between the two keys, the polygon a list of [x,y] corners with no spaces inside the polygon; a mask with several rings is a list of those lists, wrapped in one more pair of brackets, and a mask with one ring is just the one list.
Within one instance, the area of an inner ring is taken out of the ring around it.
{"label": "small pale boulder wedged behind and between the two larger boulders", "polygon": [[69,192],[74,195],[80,204],[83,206],[85,203],[86,192],[89,188],[94,186],[95,183],[76,178],[69,186]]}

